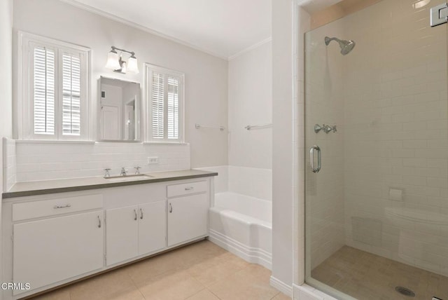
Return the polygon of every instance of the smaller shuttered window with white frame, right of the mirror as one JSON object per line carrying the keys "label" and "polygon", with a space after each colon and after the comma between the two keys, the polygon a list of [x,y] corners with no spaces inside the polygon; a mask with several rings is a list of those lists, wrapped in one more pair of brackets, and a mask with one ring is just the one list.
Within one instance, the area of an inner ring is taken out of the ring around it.
{"label": "smaller shuttered window with white frame, right of the mirror", "polygon": [[146,64],[149,142],[183,142],[183,86],[179,71]]}

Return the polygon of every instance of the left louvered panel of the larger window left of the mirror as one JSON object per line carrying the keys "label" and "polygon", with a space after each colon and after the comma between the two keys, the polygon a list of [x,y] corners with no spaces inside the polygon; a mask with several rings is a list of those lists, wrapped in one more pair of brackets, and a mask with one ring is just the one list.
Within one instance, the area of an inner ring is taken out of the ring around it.
{"label": "left louvered panel of the larger window left of the mirror", "polygon": [[34,134],[55,134],[55,51],[34,47]]}

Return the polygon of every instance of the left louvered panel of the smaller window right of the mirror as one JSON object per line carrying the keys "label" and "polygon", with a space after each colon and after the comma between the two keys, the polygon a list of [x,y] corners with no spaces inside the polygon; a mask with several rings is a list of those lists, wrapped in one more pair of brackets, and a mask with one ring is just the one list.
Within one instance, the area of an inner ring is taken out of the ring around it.
{"label": "left louvered panel of the smaller window right of the mirror", "polygon": [[164,75],[153,72],[151,85],[151,126],[153,139],[164,138],[165,123],[165,82]]}

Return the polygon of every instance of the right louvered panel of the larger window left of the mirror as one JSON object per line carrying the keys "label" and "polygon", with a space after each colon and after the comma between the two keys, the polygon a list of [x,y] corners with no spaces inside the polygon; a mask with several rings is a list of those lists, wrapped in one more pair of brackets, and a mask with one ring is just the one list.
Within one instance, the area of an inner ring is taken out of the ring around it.
{"label": "right louvered panel of the larger window left of the mirror", "polygon": [[62,135],[80,135],[81,62],[62,54]]}

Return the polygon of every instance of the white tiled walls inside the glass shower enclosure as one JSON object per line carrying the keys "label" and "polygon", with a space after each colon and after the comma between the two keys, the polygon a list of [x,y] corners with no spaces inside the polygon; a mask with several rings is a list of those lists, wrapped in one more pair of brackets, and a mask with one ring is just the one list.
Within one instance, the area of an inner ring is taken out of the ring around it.
{"label": "white tiled walls inside the glass shower enclosure", "polygon": [[[340,55],[325,36],[356,47]],[[323,171],[307,177],[311,265],[330,253],[319,253],[334,237],[325,229],[342,215],[346,245],[448,275],[446,27],[429,27],[426,8],[384,0],[314,30],[308,45],[307,128],[339,126],[306,132],[326,150]]]}

